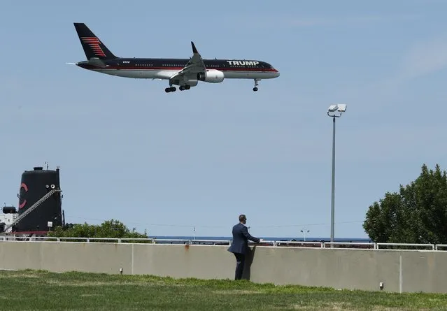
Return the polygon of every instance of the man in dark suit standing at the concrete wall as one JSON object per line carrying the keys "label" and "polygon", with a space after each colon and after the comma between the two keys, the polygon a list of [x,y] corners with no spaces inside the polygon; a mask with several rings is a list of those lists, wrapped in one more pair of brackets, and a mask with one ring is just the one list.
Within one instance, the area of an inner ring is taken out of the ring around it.
{"label": "man in dark suit standing at the concrete wall", "polygon": [[234,280],[241,280],[243,267],[246,263],[246,254],[248,253],[248,240],[260,243],[261,239],[250,236],[245,226],[247,222],[246,215],[239,215],[239,224],[233,226],[233,243],[228,251],[236,257],[236,274]]}

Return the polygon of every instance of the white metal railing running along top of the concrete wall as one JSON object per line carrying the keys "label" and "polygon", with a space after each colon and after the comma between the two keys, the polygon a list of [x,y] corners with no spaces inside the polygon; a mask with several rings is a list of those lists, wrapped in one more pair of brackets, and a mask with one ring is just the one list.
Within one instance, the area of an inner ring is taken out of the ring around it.
{"label": "white metal railing running along top of the concrete wall", "polygon": [[[163,245],[231,245],[232,240],[196,240],[196,239],[166,239],[166,238],[68,238],[50,236],[0,236],[0,242],[25,241],[46,243],[146,243]],[[260,243],[249,242],[250,246],[270,247],[306,247],[325,249],[376,249],[376,250],[417,250],[447,251],[447,244],[419,243],[367,243],[367,242],[325,242],[325,241],[287,241],[262,240]]]}

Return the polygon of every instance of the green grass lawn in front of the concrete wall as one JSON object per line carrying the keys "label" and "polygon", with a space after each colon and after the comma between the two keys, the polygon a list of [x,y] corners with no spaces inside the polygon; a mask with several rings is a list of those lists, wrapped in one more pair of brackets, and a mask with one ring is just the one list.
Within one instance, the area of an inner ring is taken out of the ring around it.
{"label": "green grass lawn in front of the concrete wall", "polygon": [[447,310],[447,295],[3,270],[0,310]]}

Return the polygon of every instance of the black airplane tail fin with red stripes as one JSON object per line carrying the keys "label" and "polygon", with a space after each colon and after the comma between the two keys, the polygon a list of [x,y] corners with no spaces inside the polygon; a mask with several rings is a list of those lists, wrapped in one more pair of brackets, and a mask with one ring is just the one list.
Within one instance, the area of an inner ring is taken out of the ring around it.
{"label": "black airplane tail fin with red stripes", "polygon": [[87,59],[91,59],[92,57],[99,59],[117,58],[84,23],[75,22],[73,24],[78,33],[80,43],[83,45]]}

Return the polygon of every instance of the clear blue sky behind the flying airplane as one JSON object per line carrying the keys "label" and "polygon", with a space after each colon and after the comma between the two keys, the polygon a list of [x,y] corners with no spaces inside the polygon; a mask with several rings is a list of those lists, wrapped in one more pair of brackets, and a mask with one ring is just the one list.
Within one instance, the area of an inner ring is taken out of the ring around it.
{"label": "clear blue sky behind the flying airplane", "polygon": [[[150,236],[329,237],[332,120],[336,238],[367,238],[371,203],[446,168],[447,3],[3,1],[0,200],[20,175],[61,168],[67,222],[120,219]],[[201,83],[85,71],[73,22],[115,55],[260,59],[281,76]]]}

